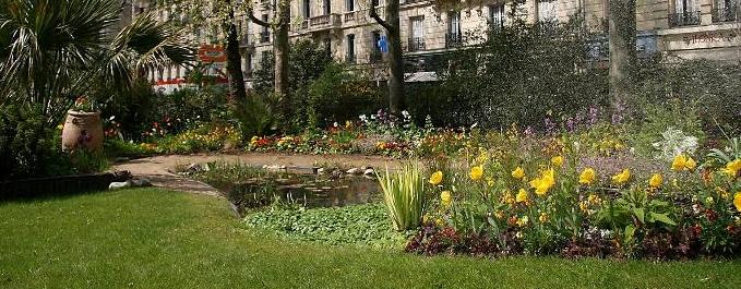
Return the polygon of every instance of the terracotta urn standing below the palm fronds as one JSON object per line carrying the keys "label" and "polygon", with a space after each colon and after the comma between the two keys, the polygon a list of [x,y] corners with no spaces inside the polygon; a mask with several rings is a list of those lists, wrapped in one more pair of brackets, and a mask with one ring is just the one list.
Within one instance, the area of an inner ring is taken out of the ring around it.
{"label": "terracotta urn standing below the palm fronds", "polygon": [[100,112],[67,111],[62,129],[62,150],[103,150],[103,122]]}

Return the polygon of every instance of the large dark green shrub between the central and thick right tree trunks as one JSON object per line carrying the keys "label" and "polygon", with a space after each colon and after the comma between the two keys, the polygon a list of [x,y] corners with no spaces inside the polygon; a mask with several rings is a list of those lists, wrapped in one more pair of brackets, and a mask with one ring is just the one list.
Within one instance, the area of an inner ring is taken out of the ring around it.
{"label": "large dark green shrub between the central and thick right tree trunks", "polygon": [[590,64],[591,35],[579,23],[543,31],[515,22],[480,46],[439,58],[441,82],[413,86],[409,112],[446,127],[542,128],[545,118],[606,105],[607,71]]}

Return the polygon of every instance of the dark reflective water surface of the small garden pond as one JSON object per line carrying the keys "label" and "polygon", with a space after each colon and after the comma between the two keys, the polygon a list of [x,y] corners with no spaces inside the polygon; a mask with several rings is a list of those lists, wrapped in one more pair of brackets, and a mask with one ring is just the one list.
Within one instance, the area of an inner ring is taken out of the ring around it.
{"label": "dark reflective water surface of the small garden pond", "polygon": [[375,178],[328,178],[304,173],[271,173],[238,182],[211,183],[224,192],[238,210],[275,202],[307,208],[364,204],[383,200]]}

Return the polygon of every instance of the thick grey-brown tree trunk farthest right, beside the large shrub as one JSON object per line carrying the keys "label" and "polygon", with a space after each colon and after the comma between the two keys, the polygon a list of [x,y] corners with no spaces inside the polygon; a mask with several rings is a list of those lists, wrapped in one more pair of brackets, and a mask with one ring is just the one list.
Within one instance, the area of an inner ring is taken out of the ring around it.
{"label": "thick grey-brown tree trunk farthest right, beside the large shrub", "polygon": [[635,63],[635,0],[610,0],[610,97],[613,108],[623,105]]}

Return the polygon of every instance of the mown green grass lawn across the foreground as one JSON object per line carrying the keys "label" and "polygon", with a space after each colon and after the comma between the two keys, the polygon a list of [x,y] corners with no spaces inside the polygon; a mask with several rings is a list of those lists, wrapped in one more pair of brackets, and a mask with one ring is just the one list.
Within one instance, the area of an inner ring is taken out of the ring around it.
{"label": "mown green grass lawn across the foreground", "polygon": [[0,204],[0,288],[741,288],[741,261],[421,257],[283,241],[224,200],[139,189]]}

